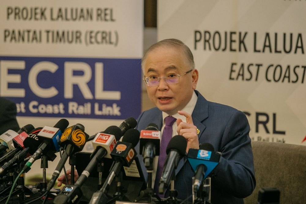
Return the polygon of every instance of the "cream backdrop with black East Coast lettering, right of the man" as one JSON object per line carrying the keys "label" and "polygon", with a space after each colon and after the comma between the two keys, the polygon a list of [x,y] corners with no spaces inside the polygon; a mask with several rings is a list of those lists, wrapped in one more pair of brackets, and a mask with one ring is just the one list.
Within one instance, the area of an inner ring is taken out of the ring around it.
{"label": "cream backdrop with black East Coast lettering, right of the man", "polygon": [[158,1],[158,40],[186,43],[207,100],[247,115],[254,141],[306,144],[306,1]]}

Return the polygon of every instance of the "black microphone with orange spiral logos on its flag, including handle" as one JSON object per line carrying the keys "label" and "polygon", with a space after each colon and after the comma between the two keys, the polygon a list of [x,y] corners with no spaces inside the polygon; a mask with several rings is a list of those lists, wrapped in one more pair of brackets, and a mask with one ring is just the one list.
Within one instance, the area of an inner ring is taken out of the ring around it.
{"label": "black microphone with orange spiral logos on its flag, including handle", "polygon": [[65,146],[64,153],[52,174],[52,177],[47,186],[47,191],[50,191],[54,186],[55,181],[61,173],[68,157],[72,154],[75,154],[76,152],[83,150],[88,137],[89,135],[86,134],[85,128],[82,124],[76,124],[66,128],[65,132],[61,136],[59,143],[60,146]]}

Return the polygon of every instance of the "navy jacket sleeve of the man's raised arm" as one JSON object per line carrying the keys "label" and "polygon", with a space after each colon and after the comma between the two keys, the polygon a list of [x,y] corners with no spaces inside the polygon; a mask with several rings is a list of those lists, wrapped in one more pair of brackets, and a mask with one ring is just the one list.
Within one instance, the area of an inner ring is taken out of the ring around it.
{"label": "navy jacket sleeve of the man's raised arm", "polygon": [[219,150],[222,156],[212,176],[216,186],[237,198],[251,195],[256,186],[249,131],[244,113],[234,111],[224,129]]}

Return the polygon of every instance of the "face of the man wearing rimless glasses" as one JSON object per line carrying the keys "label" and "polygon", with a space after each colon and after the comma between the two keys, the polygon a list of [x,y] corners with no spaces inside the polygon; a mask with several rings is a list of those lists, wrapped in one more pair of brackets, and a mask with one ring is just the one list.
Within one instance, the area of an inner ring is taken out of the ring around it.
{"label": "face of the man wearing rimless glasses", "polygon": [[[174,47],[158,47],[147,54],[144,61],[145,77],[163,77],[169,74],[181,75],[192,69],[186,63],[183,52]],[[146,86],[150,100],[155,106],[169,115],[174,115],[184,108],[192,97],[193,90],[196,89],[198,71],[180,76],[176,84],[167,84],[165,79],[160,79],[157,86]]]}

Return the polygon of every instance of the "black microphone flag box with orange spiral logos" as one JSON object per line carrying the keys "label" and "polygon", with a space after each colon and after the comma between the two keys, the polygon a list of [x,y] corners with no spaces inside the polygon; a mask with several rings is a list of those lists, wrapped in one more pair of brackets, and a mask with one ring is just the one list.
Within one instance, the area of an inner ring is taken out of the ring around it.
{"label": "black microphone flag box with orange spiral logos", "polygon": [[83,131],[78,125],[73,125],[66,128],[63,132],[59,145],[65,147],[67,144],[74,145],[77,150],[75,152],[82,151],[89,135]]}

